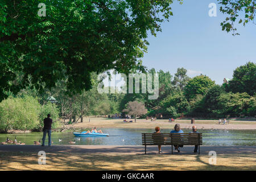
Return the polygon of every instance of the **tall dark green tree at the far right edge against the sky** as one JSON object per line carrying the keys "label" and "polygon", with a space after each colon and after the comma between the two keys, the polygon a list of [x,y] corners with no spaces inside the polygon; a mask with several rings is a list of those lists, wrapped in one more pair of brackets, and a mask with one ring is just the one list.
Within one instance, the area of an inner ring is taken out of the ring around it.
{"label": "tall dark green tree at the far right edge against the sky", "polygon": [[248,62],[234,70],[228,89],[233,93],[246,92],[250,96],[256,93],[256,64]]}

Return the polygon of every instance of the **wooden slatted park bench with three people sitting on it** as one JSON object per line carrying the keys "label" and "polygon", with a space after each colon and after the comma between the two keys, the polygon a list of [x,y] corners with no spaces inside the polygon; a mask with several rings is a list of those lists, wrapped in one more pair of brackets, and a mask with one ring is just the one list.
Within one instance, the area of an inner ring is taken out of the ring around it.
{"label": "wooden slatted park bench with three people sitting on it", "polygon": [[142,133],[142,145],[145,146],[173,146],[174,145],[198,145],[200,154],[200,145],[203,143],[201,133]]}

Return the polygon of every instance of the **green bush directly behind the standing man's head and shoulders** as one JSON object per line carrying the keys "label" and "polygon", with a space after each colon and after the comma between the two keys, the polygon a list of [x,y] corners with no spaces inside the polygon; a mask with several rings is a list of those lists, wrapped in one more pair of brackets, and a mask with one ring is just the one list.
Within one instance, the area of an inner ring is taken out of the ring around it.
{"label": "green bush directly behind the standing man's head and shoulders", "polygon": [[56,104],[47,102],[47,104],[42,105],[40,114],[39,114],[39,129],[42,129],[44,126],[44,118],[47,117],[47,114],[51,114],[52,118],[52,129],[60,127],[59,122],[59,109]]}

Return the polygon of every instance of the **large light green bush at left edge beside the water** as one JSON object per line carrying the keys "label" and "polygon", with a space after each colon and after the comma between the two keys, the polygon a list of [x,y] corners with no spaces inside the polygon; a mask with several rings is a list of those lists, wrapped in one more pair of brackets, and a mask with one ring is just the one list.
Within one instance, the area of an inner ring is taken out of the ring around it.
{"label": "large light green bush at left edge beside the water", "polygon": [[0,130],[31,130],[38,126],[40,104],[36,98],[9,97],[0,103]]}

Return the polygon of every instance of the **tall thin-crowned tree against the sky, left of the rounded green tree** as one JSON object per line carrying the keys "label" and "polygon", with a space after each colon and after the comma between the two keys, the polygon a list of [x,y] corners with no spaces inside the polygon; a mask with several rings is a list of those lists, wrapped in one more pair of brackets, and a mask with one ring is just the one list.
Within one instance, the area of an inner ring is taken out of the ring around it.
{"label": "tall thin-crowned tree against the sky, left of the rounded green tree", "polygon": [[175,86],[179,86],[179,88],[183,90],[184,86],[189,80],[190,78],[187,76],[187,69],[178,68],[177,73],[175,73],[174,75],[174,80],[172,81],[172,84],[174,84]]}

